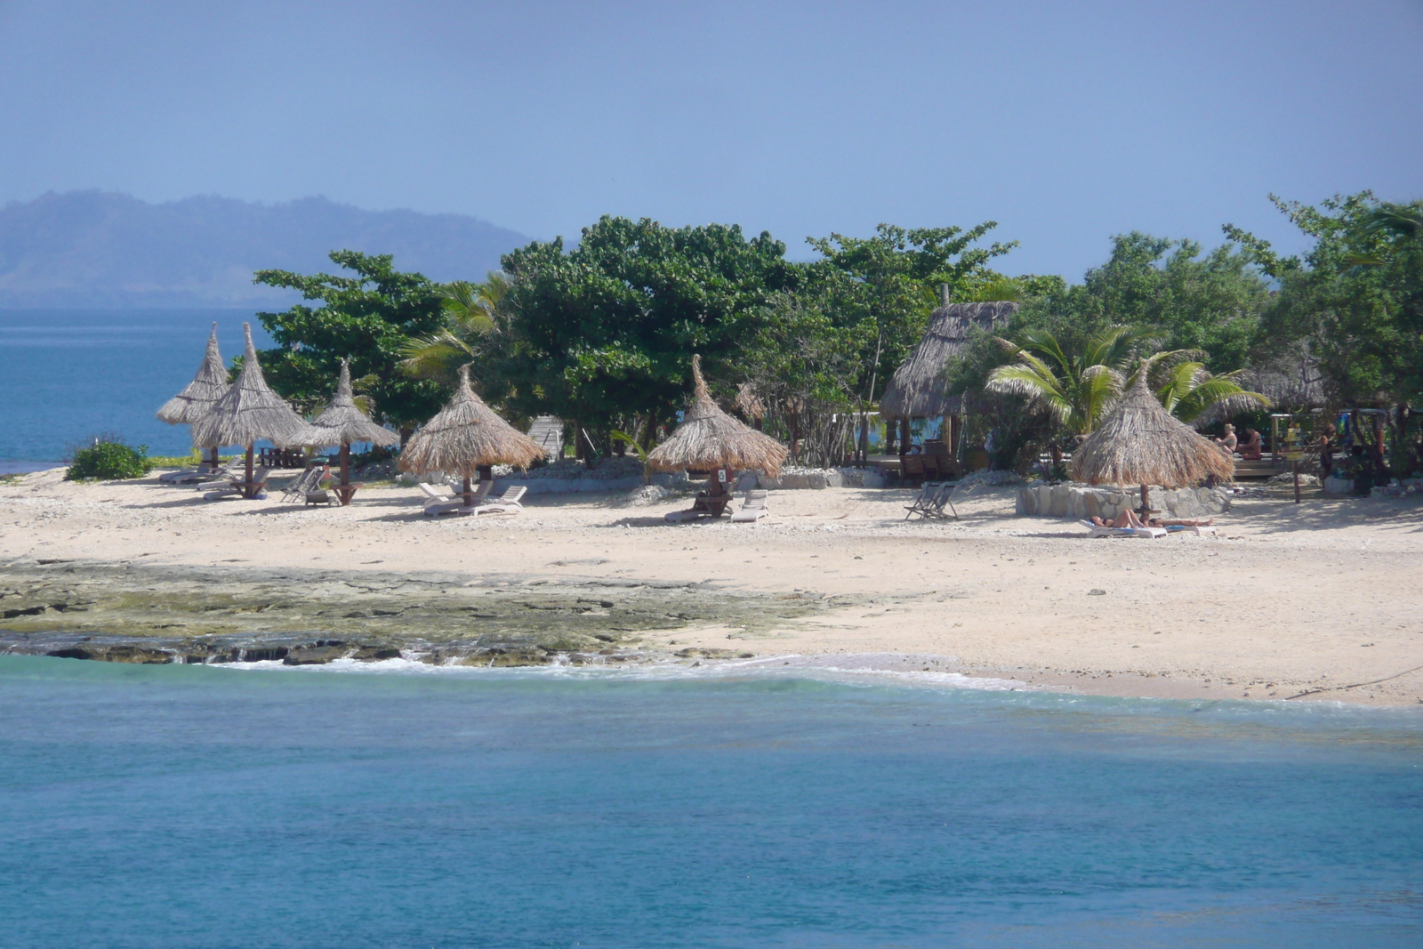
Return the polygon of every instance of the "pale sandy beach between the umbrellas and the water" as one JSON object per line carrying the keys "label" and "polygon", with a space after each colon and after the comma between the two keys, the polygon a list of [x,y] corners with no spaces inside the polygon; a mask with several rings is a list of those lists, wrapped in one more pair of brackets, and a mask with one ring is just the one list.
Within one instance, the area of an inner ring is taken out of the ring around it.
{"label": "pale sandy beach between the umbrellas and the water", "polygon": [[[780,491],[754,525],[672,526],[662,515],[676,499],[629,507],[596,494],[532,497],[514,516],[431,519],[404,485],[369,487],[349,508],[303,508],[276,491],[209,502],[155,478],[74,484],[55,470],[0,482],[0,571],[13,596],[33,571],[65,563],[78,579],[124,565],[134,576],[282,568],[437,572],[501,588],[662,585],[673,599],[683,586],[741,598],[751,619],[692,616],[638,633],[639,649],[848,654],[1083,694],[1423,703],[1416,498],[1313,495],[1296,507],[1272,492],[1235,501],[1214,538],[1090,541],[1073,521],[1015,516],[1010,488],[979,488],[949,522],[906,524],[912,495]],[[815,609],[781,616],[756,603]],[[3,626],[102,627],[101,615],[74,622],[41,613]]]}

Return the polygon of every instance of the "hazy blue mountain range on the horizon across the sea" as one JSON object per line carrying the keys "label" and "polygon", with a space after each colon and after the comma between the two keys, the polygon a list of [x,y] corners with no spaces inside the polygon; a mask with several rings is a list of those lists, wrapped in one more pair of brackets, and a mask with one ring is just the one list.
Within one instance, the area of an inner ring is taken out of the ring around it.
{"label": "hazy blue mountain range on the horizon across the sea", "polygon": [[0,307],[248,307],[299,299],[252,283],[260,269],[332,272],[326,256],[393,253],[400,270],[482,280],[529,238],[467,215],[361,211],[326,198],[152,205],[74,191],[0,208]]}

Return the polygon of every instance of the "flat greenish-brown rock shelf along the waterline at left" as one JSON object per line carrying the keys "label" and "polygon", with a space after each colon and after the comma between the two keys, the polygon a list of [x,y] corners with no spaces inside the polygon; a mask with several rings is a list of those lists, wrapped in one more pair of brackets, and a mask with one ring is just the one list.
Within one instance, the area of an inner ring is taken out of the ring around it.
{"label": "flat greenish-brown rock shelf along the waterline at left", "polygon": [[289,666],[696,662],[753,653],[670,650],[647,635],[724,626],[754,639],[825,609],[815,593],[750,595],[710,582],[26,559],[0,565],[0,654]]}

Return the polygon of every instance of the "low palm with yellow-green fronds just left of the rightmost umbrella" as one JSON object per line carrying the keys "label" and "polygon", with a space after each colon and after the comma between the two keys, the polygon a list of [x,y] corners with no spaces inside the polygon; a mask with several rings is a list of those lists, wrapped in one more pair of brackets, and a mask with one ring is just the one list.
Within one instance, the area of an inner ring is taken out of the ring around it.
{"label": "low palm with yellow-green fronds just left of the rightmost umbrella", "polygon": [[1019,343],[999,339],[1015,361],[995,369],[988,388],[1025,396],[1086,435],[1121,394],[1133,349],[1144,337],[1131,326],[1109,326],[1087,337],[1080,353],[1047,330],[1027,330]]}

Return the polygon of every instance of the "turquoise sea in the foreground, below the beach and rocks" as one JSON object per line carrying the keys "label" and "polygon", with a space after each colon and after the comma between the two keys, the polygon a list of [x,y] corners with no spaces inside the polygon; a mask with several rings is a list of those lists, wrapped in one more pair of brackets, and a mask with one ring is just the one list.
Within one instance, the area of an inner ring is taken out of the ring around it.
{"label": "turquoise sea in the foreground, below the beach and rocks", "polygon": [[1417,946],[1423,719],[0,657],[4,946]]}

